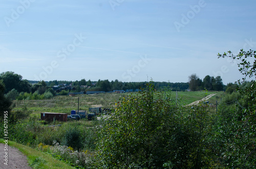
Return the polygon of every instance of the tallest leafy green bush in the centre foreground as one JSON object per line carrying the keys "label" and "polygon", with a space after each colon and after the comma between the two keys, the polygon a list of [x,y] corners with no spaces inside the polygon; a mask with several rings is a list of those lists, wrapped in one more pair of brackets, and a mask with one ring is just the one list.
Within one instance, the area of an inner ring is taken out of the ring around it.
{"label": "tallest leafy green bush in the centre foreground", "polygon": [[97,168],[163,168],[171,156],[168,129],[175,105],[154,100],[154,91],[147,85],[147,91],[117,103],[100,130]]}

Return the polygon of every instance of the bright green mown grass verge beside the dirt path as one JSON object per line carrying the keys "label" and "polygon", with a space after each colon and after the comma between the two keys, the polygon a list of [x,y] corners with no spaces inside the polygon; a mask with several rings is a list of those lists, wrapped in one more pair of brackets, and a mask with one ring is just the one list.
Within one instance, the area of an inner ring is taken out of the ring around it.
{"label": "bright green mown grass verge beside the dirt path", "polygon": [[[4,143],[4,139],[0,139],[0,143]],[[20,152],[25,154],[28,158],[29,165],[33,168],[74,168],[53,158],[48,154],[42,153],[28,146],[24,146],[23,144],[19,144],[14,141],[8,141],[8,145],[17,148]]]}

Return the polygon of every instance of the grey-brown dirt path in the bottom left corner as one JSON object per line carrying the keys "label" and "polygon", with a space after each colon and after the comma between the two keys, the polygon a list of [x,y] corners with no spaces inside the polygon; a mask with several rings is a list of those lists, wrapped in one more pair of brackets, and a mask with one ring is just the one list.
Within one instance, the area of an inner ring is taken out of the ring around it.
{"label": "grey-brown dirt path in the bottom left corner", "polygon": [[[8,165],[5,164],[5,154],[8,152]],[[0,168],[2,169],[14,169],[14,168],[22,168],[22,169],[31,169],[28,166],[27,156],[20,153],[18,149],[8,146],[8,151],[5,150],[5,144],[0,143]]]}

